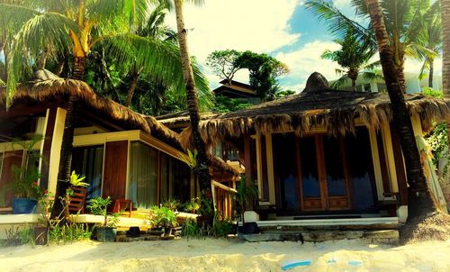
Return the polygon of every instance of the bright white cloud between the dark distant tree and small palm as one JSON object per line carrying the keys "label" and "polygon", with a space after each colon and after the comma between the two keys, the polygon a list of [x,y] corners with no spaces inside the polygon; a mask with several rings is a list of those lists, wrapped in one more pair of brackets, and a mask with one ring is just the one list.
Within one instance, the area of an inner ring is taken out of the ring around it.
{"label": "bright white cloud between the dark distant tree and small palm", "polygon": [[325,50],[338,50],[339,45],[332,41],[312,41],[301,48],[289,52],[280,52],[275,58],[284,62],[291,72],[281,78],[282,86],[301,91],[306,79],[313,72],[320,72],[328,80],[337,78],[335,69],[338,64],[328,59],[321,59]]}

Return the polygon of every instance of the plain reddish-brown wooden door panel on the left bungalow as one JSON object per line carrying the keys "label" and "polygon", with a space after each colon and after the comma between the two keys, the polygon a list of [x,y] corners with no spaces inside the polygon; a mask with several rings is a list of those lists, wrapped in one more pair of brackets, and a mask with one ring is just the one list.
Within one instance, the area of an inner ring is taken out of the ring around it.
{"label": "plain reddish-brown wooden door panel on the left bungalow", "polygon": [[108,141],[105,144],[103,197],[125,198],[127,183],[128,141]]}

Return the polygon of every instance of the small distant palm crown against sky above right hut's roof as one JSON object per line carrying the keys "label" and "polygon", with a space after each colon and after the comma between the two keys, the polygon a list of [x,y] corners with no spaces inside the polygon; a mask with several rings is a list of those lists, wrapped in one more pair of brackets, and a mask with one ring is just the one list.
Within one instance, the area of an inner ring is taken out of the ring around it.
{"label": "small distant palm crown against sky above right hut's roof", "polygon": [[336,39],[335,42],[340,45],[340,50],[326,50],[321,55],[322,59],[336,61],[340,67],[344,68],[336,69],[337,74],[342,75],[342,77],[331,86],[339,88],[347,79],[350,79],[352,81],[352,88],[356,91],[356,79],[362,70],[365,70],[364,77],[374,77],[372,70],[379,63],[369,63],[369,61],[374,57],[376,48],[372,46],[371,41],[359,41],[356,39],[355,32],[352,31],[347,32],[344,39]]}

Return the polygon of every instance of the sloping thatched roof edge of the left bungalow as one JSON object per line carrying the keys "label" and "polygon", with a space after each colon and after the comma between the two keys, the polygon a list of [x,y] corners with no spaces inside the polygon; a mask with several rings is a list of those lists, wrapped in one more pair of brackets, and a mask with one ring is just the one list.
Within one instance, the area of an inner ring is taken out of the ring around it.
{"label": "sloping thatched roof edge of the left bungalow", "polygon": [[[42,102],[66,102],[69,95],[75,95],[82,111],[86,107],[95,113],[121,123],[127,129],[148,132],[161,141],[180,149],[177,134],[157,122],[154,117],[135,113],[129,108],[112,101],[109,98],[96,95],[94,90],[84,81],[67,78],[56,78],[34,81],[17,86],[11,101],[11,108],[19,104],[37,104]],[[5,91],[0,88],[0,105],[4,107]]]}

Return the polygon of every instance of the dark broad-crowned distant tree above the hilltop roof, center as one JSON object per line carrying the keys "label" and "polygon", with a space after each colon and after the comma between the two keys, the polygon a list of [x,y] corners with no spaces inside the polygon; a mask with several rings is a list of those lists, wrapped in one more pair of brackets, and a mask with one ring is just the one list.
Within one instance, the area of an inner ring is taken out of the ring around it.
{"label": "dark broad-crowned distant tree above the hilltop roof, center", "polygon": [[266,100],[274,100],[276,93],[280,91],[277,77],[289,72],[287,66],[267,54],[258,54],[252,51],[239,52],[236,50],[213,51],[207,64],[220,78],[229,82],[239,69],[247,68],[249,82],[257,95]]}

